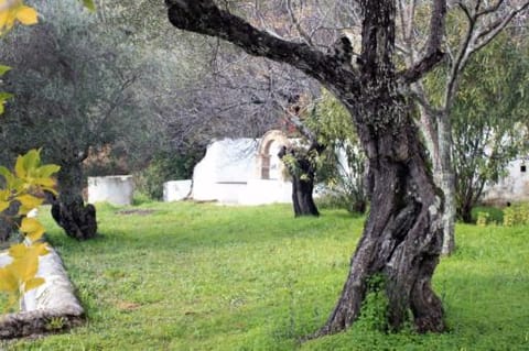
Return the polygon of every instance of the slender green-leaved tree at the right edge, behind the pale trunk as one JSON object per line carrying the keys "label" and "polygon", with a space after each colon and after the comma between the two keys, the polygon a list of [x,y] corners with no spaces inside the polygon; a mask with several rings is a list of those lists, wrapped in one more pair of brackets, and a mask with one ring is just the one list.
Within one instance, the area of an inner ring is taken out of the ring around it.
{"label": "slender green-leaved tree at the right edge, behind the pale trunk", "polygon": [[529,54],[527,43],[507,33],[477,53],[462,77],[451,113],[457,215],[472,221],[472,208],[486,184],[529,149]]}

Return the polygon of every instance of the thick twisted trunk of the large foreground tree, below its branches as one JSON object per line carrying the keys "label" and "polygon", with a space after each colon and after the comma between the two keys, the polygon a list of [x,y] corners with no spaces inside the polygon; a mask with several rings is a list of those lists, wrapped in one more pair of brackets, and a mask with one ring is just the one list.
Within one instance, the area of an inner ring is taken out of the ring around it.
{"label": "thick twisted trunk of the large foreground tree, below its branches", "polygon": [[[388,322],[399,329],[413,315],[417,329],[443,331],[441,300],[431,278],[442,246],[442,201],[428,173],[418,131],[410,116],[395,108],[398,128],[364,128],[369,157],[371,209],[364,234],[350,262],[342,296],[320,333],[349,327],[360,314],[366,281],[382,274],[389,298]],[[374,111],[374,113],[387,111]]]}

